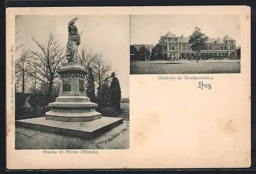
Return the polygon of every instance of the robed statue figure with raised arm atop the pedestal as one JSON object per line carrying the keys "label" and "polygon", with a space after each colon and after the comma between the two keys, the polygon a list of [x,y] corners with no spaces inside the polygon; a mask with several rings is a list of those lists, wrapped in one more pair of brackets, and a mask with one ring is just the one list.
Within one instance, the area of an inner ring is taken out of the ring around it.
{"label": "robed statue figure with raised arm atop the pedestal", "polygon": [[66,52],[68,62],[77,61],[77,46],[79,46],[81,42],[81,34],[78,33],[77,26],[74,25],[76,20],[78,20],[78,17],[75,17],[72,20],[70,20],[68,24],[69,40],[67,43]]}

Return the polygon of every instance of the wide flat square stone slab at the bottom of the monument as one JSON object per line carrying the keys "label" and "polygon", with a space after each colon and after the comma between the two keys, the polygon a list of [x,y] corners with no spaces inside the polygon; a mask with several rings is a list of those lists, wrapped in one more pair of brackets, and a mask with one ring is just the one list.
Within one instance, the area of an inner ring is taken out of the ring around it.
{"label": "wide flat square stone slab at the bottom of the monument", "polygon": [[93,139],[122,123],[122,118],[113,117],[101,117],[100,119],[87,122],[63,122],[46,120],[45,117],[39,117],[17,120],[15,121],[15,126]]}

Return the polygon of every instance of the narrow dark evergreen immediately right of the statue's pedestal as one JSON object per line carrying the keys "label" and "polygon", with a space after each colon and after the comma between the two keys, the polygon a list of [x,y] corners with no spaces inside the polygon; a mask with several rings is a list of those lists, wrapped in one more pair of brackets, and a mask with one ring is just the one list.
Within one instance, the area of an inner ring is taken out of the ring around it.
{"label": "narrow dark evergreen immediately right of the statue's pedestal", "polygon": [[95,96],[95,84],[94,84],[94,76],[92,68],[88,68],[88,82],[86,86],[86,94],[91,99],[91,102],[95,102],[96,96]]}

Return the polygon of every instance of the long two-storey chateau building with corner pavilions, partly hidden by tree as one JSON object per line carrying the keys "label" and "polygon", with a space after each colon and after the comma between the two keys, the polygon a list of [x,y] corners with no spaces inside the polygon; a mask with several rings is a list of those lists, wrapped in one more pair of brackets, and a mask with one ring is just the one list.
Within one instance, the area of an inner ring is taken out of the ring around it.
{"label": "long two-storey chateau building with corner pavilions, partly hidden by tree", "polygon": [[[158,44],[152,50],[152,55],[164,59],[176,59],[194,57],[196,53],[191,50],[191,44],[188,44],[189,37],[176,36],[168,32],[161,36]],[[214,58],[222,57],[228,59],[237,58],[236,40],[226,35],[224,38],[209,38],[206,50],[201,51],[200,57]]]}

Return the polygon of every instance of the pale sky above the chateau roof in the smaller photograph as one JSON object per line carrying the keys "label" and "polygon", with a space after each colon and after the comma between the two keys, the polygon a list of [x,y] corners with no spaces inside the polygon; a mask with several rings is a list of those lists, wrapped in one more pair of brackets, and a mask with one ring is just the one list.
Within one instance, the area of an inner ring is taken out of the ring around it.
{"label": "pale sky above the chateau roof in the smaller photograph", "polygon": [[210,38],[228,34],[237,46],[241,43],[239,15],[131,15],[131,45],[156,45],[168,31],[189,37],[196,26]]}

